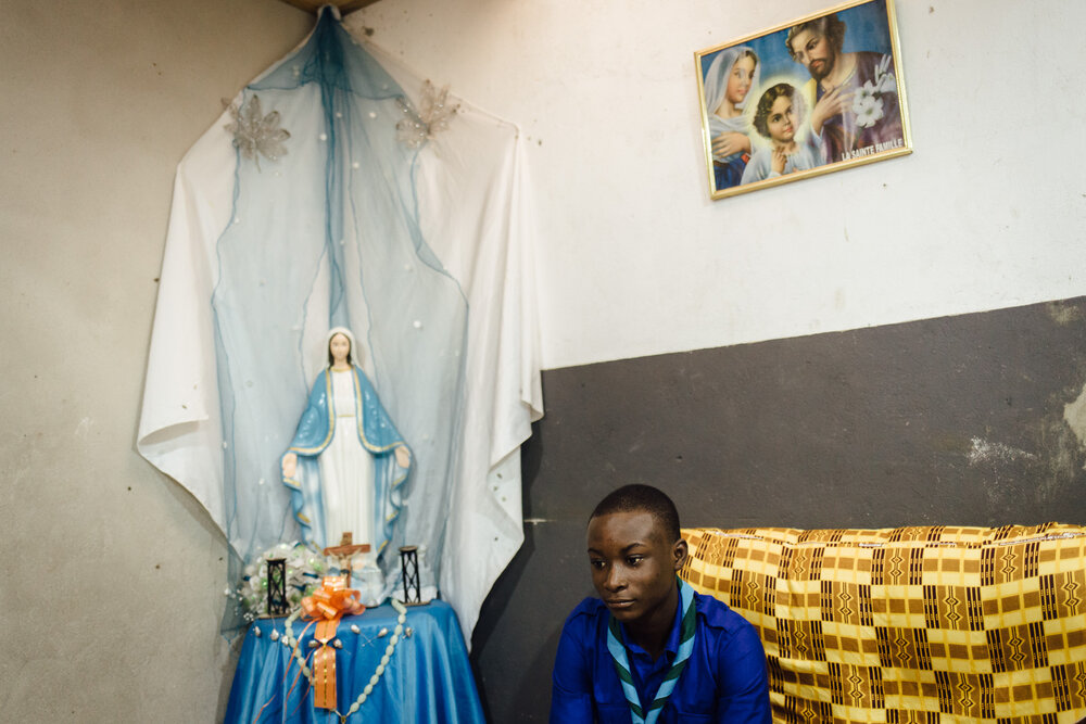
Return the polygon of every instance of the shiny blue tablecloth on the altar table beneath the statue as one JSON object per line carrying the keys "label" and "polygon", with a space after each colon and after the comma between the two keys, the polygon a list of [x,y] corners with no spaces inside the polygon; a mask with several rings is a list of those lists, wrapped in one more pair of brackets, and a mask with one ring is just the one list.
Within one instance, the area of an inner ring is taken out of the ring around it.
{"label": "shiny blue tablecloth on the altar table beneath the statue", "polygon": [[[336,649],[337,708],[346,713],[369,683],[389,637],[396,627],[396,612],[384,605],[359,615],[344,617],[337,630],[343,648]],[[300,650],[312,661],[314,626],[292,624]],[[351,631],[358,626],[361,633]],[[314,709],[310,683],[299,672],[298,660],[282,644],[286,619],[257,620],[245,634],[241,658],[230,688],[225,722],[286,722],[338,724],[339,716]],[[444,601],[407,608],[405,630],[384,675],[357,712],[346,719],[362,722],[484,722],[479,694],[468,664],[467,647],[456,613]],[[388,635],[381,637],[381,628]],[[260,635],[256,635],[260,630]],[[302,631],[305,634],[302,635]],[[272,632],[279,634],[272,639]]]}

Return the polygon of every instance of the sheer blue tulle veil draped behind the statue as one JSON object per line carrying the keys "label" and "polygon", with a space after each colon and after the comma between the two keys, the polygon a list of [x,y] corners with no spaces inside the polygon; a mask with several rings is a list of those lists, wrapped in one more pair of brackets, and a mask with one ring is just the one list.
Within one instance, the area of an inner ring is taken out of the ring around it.
{"label": "sheer blue tulle veil draped behind the statue", "polygon": [[[334,13],[238,99],[290,137],[275,158],[237,158],[231,223],[211,300],[223,416],[229,575],[299,537],[279,459],[327,363],[329,328],[352,329],[362,367],[413,452],[405,507],[382,568],[421,544],[440,560],[459,450],[467,303],[419,229],[417,150],[397,141],[405,94]],[[272,116],[277,114],[277,116]],[[225,628],[240,622],[236,602]]]}

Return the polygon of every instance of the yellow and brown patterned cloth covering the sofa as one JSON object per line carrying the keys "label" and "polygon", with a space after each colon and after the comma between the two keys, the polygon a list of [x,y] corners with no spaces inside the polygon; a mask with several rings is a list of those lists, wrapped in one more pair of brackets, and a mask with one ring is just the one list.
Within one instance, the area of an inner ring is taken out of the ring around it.
{"label": "yellow and brown patterned cloth covering the sofa", "polygon": [[1086,717],[1086,528],[686,529],[753,623],[776,723]]}

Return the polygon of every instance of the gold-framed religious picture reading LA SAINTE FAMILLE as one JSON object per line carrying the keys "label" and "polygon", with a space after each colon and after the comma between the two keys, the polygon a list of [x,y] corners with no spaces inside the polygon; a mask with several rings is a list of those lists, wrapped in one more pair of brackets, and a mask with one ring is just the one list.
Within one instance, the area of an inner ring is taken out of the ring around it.
{"label": "gold-framed religious picture reading LA SAINTE FAMILLE", "polygon": [[694,53],[714,199],[912,153],[893,0]]}

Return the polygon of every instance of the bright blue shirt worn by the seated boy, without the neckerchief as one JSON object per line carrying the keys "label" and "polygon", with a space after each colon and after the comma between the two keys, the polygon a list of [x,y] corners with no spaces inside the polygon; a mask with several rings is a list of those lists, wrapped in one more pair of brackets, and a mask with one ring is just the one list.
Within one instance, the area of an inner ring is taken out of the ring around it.
{"label": "bright blue shirt worn by the seated boy, without the neckerchief", "polygon": [[[694,651],[660,712],[659,724],[770,724],[766,655],[754,626],[711,596],[695,593],[694,606]],[[655,696],[675,657],[680,613],[675,611],[665,652],[656,661],[631,643],[622,627],[622,643],[643,704]],[[602,600],[585,598],[566,619],[554,662],[552,724],[630,724],[630,706],[607,650],[609,618]]]}

